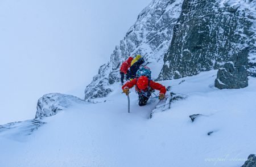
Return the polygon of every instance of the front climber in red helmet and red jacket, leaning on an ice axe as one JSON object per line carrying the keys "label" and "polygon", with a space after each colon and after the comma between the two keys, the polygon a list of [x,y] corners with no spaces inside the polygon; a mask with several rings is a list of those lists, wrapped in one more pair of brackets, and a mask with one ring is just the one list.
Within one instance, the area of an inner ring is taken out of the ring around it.
{"label": "front climber in red helmet and red jacket, leaning on an ice axe", "polygon": [[154,89],[159,90],[159,100],[163,100],[166,94],[166,87],[162,84],[149,80],[147,76],[140,76],[122,86],[123,93],[129,95],[129,89],[135,85],[135,89],[139,94],[139,106],[147,104],[149,97]]}

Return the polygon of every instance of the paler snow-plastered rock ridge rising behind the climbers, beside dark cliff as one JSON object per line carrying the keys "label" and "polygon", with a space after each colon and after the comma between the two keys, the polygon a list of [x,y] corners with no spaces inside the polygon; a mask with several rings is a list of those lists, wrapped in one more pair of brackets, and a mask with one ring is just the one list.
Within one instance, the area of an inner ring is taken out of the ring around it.
{"label": "paler snow-plastered rock ridge rising behind the climbers, beside dark cliff", "polygon": [[112,92],[113,84],[119,82],[119,67],[130,55],[141,54],[147,66],[154,68],[153,78],[158,77],[182,2],[183,0],[154,0],[144,8],[120,45],[115,47],[110,61],[100,67],[98,75],[85,88],[85,100],[105,97]]}

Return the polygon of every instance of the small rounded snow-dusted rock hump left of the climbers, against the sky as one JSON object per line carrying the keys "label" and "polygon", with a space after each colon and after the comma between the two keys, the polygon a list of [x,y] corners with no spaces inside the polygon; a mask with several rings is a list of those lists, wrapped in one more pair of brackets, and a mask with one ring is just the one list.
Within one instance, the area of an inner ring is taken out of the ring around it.
{"label": "small rounded snow-dusted rock hump left of the climbers, against the sky", "polygon": [[77,103],[82,104],[85,101],[72,95],[63,95],[60,93],[44,95],[38,100],[35,118],[50,117]]}

